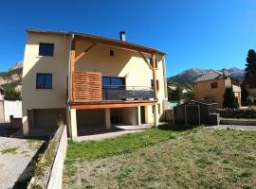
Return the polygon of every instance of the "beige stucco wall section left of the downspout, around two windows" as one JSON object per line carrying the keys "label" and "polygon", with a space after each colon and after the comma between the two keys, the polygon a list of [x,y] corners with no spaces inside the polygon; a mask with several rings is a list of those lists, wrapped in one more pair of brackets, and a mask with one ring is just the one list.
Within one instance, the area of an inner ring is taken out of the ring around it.
{"label": "beige stucco wall section left of the downspout, around two windows", "polygon": [[[65,107],[68,42],[63,35],[28,33],[23,67],[23,115],[27,109]],[[39,43],[54,43],[54,56],[39,57]],[[37,73],[52,73],[53,89],[36,89]]]}

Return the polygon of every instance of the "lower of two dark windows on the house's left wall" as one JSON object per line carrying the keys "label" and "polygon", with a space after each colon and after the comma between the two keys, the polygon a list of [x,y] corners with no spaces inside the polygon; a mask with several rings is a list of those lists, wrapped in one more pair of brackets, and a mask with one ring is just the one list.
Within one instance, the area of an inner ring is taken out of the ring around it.
{"label": "lower of two dark windows on the house's left wall", "polygon": [[37,89],[52,89],[52,74],[37,74],[36,75]]}

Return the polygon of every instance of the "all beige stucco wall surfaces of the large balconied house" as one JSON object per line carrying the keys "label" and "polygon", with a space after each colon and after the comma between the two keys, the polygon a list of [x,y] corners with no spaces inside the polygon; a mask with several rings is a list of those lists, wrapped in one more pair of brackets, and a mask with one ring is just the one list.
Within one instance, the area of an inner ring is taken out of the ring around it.
{"label": "all beige stucco wall surfaces of the large balconied house", "polygon": [[[39,57],[39,43],[54,43],[53,57]],[[77,42],[78,56],[90,43]],[[114,50],[114,57],[109,50]],[[27,33],[23,68],[23,115],[27,109],[58,109],[64,108],[66,102],[69,38],[64,35]],[[165,86],[162,57],[157,56],[156,78],[159,80],[158,103],[161,106],[165,99]],[[108,45],[97,44],[86,53],[75,65],[76,71],[101,72],[103,76],[125,77],[127,86],[151,87],[153,72],[138,52],[125,50]],[[36,89],[36,74],[51,73],[53,89]],[[154,122],[152,107],[149,106],[148,123]],[[78,113],[80,114],[80,113]],[[80,115],[78,115],[80,116]]]}

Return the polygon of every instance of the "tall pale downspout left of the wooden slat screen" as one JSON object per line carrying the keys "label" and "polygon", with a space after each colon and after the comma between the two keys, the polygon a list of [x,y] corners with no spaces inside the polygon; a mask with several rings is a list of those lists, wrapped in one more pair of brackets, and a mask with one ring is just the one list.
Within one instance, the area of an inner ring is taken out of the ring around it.
{"label": "tall pale downspout left of the wooden slat screen", "polygon": [[72,135],[72,129],[71,129],[71,113],[70,113],[70,70],[71,70],[71,48],[72,48],[72,42],[75,38],[74,33],[71,34],[71,39],[69,42],[69,57],[68,57],[68,77],[67,77],[67,101],[66,101],[66,105],[67,105],[67,113],[68,113],[68,132],[70,135],[71,140],[73,139],[73,135]]}

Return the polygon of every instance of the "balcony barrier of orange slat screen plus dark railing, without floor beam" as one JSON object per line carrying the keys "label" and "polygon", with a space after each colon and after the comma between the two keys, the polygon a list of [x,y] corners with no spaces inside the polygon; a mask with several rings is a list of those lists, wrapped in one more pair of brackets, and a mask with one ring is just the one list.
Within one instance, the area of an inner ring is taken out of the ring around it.
{"label": "balcony barrier of orange slat screen plus dark railing, without floor beam", "polygon": [[155,98],[154,90],[148,86],[102,86],[101,73],[74,72],[72,78],[71,101],[75,103]]}

